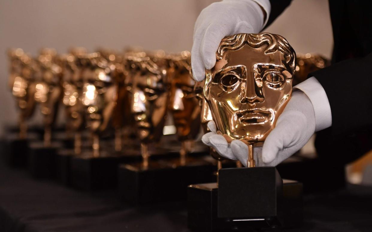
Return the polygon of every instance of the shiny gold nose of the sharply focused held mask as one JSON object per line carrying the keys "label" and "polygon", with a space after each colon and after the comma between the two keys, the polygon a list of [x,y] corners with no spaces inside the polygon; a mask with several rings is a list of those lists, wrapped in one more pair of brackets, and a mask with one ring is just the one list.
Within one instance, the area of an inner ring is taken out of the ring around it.
{"label": "shiny gold nose of the sharply focused held mask", "polygon": [[247,76],[246,82],[241,83],[240,102],[254,104],[264,100],[262,86],[257,86],[253,76]]}

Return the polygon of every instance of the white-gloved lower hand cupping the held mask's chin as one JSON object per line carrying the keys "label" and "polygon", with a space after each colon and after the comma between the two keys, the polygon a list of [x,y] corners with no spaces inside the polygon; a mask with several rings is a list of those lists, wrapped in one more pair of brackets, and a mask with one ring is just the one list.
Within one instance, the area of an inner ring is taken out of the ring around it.
{"label": "white-gloved lower hand cupping the held mask's chin", "polygon": [[[209,123],[208,126],[212,132],[203,135],[203,143],[215,148],[221,156],[238,159],[246,166],[247,145],[239,140],[233,140],[228,144],[222,135],[216,134],[214,122]],[[301,149],[314,132],[315,115],[311,101],[304,92],[295,91],[279,116],[275,128],[264,141],[263,147],[254,147],[256,166],[278,165]]]}

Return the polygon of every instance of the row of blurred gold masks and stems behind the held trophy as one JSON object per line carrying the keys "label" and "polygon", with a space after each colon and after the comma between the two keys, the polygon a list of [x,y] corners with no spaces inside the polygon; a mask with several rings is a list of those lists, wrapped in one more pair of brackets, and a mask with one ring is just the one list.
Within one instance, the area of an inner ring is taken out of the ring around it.
{"label": "row of blurred gold masks and stems behind the held trophy", "polygon": [[[26,138],[27,120],[39,104],[44,116],[45,146],[51,144],[61,103],[76,154],[81,153],[84,129],[92,135],[93,156],[99,156],[103,131],[115,129],[115,150],[120,151],[123,128],[129,128],[137,131],[141,141],[144,167],[148,166],[148,145],[163,135],[167,112],[171,112],[182,141],[181,163],[185,163],[190,141],[196,138],[201,123],[206,132],[206,123],[212,120],[202,96],[204,83],[191,77],[188,51],[166,55],[162,50],[145,53],[137,48],[125,53],[110,49],[87,53],[84,48],[73,48],[68,54],[58,55],[55,49],[46,48],[33,58],[18,48],[9,50],[8,55],[9,85],[19,108],[19,136]],[[307,53],[297,59],[297,83],[304,81],[310,71],[327,65],[319,55]]]}

